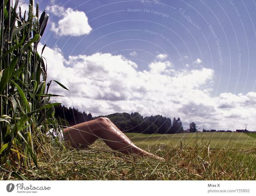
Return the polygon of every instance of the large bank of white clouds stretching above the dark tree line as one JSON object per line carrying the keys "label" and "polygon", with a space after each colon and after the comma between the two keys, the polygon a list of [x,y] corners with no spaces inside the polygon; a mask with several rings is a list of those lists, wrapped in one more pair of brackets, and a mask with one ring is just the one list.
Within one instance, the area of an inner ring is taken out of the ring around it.
{"label": "large bank of white clouds stretching above the dark tree line", "polygon": [[[39,51],[43,45],[39,45]],[[50,91],[64,105],[91,112],[94,116],[139,112],[143,116],[161,114],[180,117],[184,128],[195,122],[207,129],[243,128],[254,123],[256,93],[222,93],[212,97],[212,69],[175,70],[169,61],[151,62],[147,70],[122,55],[96,53],[69,56],[59,48],[45,47],[48,79],[57,80]]]}

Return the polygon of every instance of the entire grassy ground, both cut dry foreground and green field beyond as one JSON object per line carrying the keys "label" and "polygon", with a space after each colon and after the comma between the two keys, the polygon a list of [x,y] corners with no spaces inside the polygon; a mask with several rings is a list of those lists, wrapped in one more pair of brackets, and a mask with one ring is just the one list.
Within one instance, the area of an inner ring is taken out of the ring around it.
{"label": "entire grassy ground, both cut dry foreground and green field beyond", "polygon": [[9,170],[0,170],[0,180],[256,180],[256,138],[247,134],[127,135],[165,160],[124,155],[101,140],[81,151],[49,141],[42,148],[50,153],[37,160],[38,169],[10,162]]}

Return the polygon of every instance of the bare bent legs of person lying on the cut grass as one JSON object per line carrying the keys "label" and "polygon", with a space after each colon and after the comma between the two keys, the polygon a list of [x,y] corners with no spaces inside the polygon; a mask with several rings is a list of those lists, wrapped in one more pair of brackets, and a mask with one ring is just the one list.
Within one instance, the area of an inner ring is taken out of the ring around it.
{"label": "bare bent legs of person lying on the cut grass", "polygon": [[121,132],[108,118],[98,118],[63,130],[67,146],[73,148],[86,148],[98,138],[102,139],[111,149],[124,154],[137,154],[139,156],[152,156],[162,159],[140,149]]}

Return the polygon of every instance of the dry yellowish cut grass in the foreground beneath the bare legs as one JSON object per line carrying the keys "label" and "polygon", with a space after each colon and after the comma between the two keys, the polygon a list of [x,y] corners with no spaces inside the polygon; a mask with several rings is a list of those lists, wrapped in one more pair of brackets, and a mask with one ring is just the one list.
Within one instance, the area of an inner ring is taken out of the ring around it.
{"label": "dry yellowish cut grass in the foreground beneath the bare legs", "polygon": [[[0,179],[28,180],[255,180],[255,150],[199,149],[160,144],[150,152],[165,161],[124,155],[97,141],[90,149],[69,150],[44,145],[49,151],[37,160],[38,169],[0,170]],[[8,163],[7,163],[8,164]],[[6,167],[5,167],[6,168]]]}

